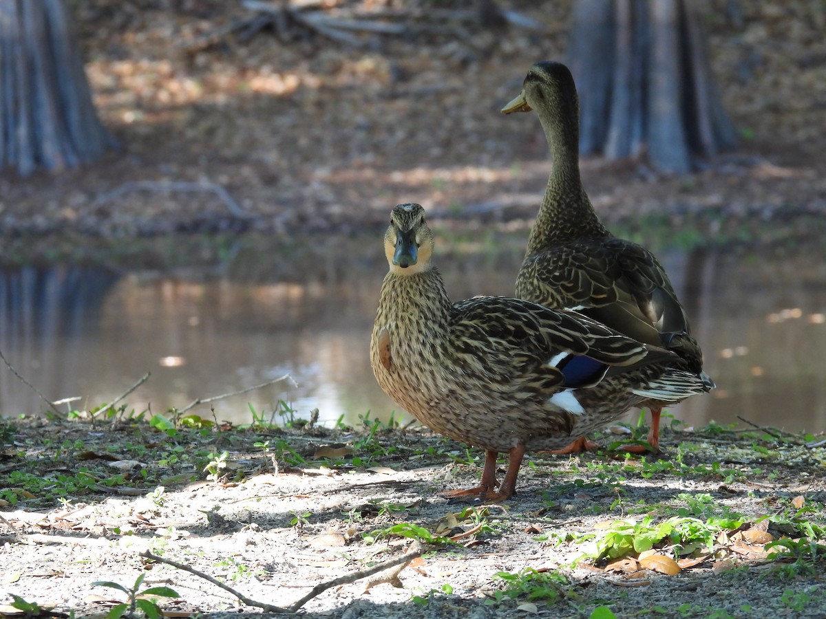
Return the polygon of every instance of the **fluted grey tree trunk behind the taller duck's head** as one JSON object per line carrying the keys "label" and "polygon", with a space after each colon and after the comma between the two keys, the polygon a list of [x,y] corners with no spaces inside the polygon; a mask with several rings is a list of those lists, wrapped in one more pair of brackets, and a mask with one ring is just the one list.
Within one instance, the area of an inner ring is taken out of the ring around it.
{"label": "fluted grey tree trunk behind the taller duck's head", "polygon": [[581,101],[580,150],[643,154],[690,172],[736,144],[693,0],[581,0],[568,65]]}

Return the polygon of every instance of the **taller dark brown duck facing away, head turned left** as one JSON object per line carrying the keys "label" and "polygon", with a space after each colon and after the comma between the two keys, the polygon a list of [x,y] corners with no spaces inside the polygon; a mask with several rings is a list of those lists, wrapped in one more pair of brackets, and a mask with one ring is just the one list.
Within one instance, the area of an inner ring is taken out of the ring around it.
{"label": "taller dark brown duck facing away, head turned left", "polygon": [[[638,342],[665,347],[679,357],[677,367],[714,388],[702,371],[700,346],[691,337],[686,312],[662,265],[648,249],[615,238],[582,187],[577,88],[564,64],[534,64],[520,95],[502,109],[506,114],[531,110],[539,116],[553,168],[515,295],[554,309],[576,309]],[[641,403],[651,409],[648,442],[654,451],[659,449],[663,404],[656,398]],[[591,444],[582,437],[563,451],[587,447]]]}

